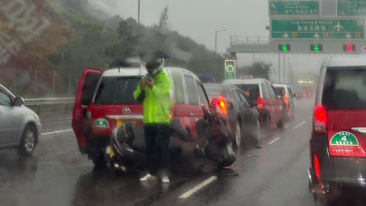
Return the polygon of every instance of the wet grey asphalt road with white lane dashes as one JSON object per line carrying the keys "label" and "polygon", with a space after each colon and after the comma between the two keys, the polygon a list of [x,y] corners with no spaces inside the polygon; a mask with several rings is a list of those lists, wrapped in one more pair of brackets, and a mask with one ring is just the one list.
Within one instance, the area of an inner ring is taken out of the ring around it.
{"label": "wet grey asphalt road with white lane dashes", "polygon": [[140,183],[138,171],[117,176],[95,168],[79,153],[71,120],[44,121],[46,134],[31,158],[0,151],[0,205],[317,205],[307,175],[313,103],[296,101],[295,119],[284,129],[272,126],[261,135],[261,148],[247,145],[229,168],[182,161],[172,166],[170,184]]}

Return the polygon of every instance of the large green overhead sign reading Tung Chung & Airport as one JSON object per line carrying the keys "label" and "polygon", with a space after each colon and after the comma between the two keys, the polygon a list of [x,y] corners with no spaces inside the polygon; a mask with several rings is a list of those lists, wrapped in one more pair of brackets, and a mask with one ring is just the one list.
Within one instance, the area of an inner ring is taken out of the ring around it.
{"label": "large green overhead sign reading Tung Chung & Airport", "polygon": [[[366,0],[365,0],[366,1]],[[271,39],[364,39],[363,18],[271,19]]]}

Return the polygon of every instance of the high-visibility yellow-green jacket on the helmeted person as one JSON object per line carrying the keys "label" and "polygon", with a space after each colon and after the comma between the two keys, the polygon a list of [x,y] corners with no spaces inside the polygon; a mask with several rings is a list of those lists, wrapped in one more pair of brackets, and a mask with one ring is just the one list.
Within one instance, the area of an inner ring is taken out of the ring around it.
{"label": "high-visibility yellow-green jacket on the helmeted person", "polygon": [[[146,77],[142,78],[142,81]],[[169,123],[169,107],[170,101],[170,77],[161,71],[153,77],[154,86],[150,89],[148,85],[145,86],[145,99],[142,102],[143,106],[143,122],[144,123]],[[137,90],[134,92],[134,98],[141,93],[140,85],[137,86]]]}

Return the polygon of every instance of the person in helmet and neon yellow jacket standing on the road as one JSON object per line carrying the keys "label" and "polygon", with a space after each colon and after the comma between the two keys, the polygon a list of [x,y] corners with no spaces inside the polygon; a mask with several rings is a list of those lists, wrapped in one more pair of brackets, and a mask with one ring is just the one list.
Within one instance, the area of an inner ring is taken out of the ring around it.
{"label": "person in helmet and neon yellow jacket standing on the road", "polygon": [[[169,107],[171,80],[163,71],[164,58],[146,63],[148,75],[140,79],[134,97],[143,105],[143,122],[148,173],[140,181],[152,180],[154,169],[162,171],[162,182],[168,183]],[[156,147],[157,145],[157,147]],[[155,149],[158,149],[157,151]],[[156,155],[156,160],[154,156]]]}

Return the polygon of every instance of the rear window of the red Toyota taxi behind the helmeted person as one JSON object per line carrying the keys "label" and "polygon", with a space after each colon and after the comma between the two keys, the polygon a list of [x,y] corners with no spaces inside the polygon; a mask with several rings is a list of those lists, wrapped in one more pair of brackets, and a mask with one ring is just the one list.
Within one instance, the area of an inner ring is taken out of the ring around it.
{"label": "rear window of the red Toyota taxi behind the helmeted person", "polygon": [[137,89],[140,76],[103,77],[99,84],[96,104],[140,104],[133,96]]}

